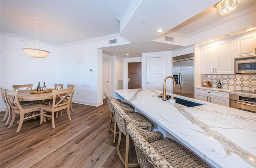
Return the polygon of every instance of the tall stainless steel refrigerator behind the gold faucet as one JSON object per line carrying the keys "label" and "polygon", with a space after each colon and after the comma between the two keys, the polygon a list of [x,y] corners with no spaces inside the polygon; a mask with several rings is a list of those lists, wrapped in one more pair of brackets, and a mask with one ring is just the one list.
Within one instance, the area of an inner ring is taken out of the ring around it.
{"label": "tall stainless steel refrigerator behind the gold faucet", "polygon": [[172,57],[173,94],[194,98],[194,53]]}

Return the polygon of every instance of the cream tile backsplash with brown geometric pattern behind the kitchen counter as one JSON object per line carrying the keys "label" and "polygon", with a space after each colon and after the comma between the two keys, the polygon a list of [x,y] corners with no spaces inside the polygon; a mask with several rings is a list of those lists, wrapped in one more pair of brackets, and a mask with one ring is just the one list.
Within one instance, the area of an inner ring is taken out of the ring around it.
{"label": "cream tile backsplash with brown geometric pattern behind the kitchen counter", "polygon": [[217,88],[220,80],[222,88],[234,90],[256,90],[256,74],[206,74],[212,87]]}

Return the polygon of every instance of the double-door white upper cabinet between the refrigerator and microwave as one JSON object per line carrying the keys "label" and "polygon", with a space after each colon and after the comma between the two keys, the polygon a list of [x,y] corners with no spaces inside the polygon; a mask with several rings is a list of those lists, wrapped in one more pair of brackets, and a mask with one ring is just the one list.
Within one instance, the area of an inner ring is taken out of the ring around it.
{"label": "double-door white upper cabinet between the refrigerator and microwave", "polygon": [[234,73],[234,40],[201,47],[201,74]]}

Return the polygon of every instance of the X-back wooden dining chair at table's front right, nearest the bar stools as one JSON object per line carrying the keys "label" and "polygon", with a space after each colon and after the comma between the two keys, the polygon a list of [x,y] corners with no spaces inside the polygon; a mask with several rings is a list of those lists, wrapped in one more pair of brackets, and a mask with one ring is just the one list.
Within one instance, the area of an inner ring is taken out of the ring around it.
{"label": "X-back wooden dining chair at table's front right, nearest the bar stools", "polygon": [[70,117],[71,99],[67,99],[67,96],[71,96],[73,90],[74,88],[52,90],[53,102],[51,105],[46,105],[45,107],[41,107],[40,124],[42,124],[43,121],[46,122],[46,117],[50,117],[52,119],[52,128],[55,128],[54,113],[56,111],[62,111],[63,109],[67,110],[68,120],[71,121],[71,117]]}

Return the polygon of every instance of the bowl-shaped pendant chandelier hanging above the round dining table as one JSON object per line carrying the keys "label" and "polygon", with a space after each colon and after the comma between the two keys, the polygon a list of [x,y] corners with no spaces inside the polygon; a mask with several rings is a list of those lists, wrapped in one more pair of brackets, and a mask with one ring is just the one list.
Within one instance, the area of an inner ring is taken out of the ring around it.
{"label": "bowl-shaped pendant chandelier hanging above the round dining table", "polygon": [[[33,41],[33,43],[31,43],[27,48],[22,49],[24,51],[24,53],[30,57],[34,57],[34,58],[45,58],[47,57],[50,52],[46,51],[45,48],[43,47],[43,45],[41,44],[41,42],[38,40],[38,22],[35,21],[34,23],[36,23],[36,48],[30,48],[30,46],[35,42]],[[40,43],[40,45],[42,46],[42,49],[38,49],[38,42]]]}

